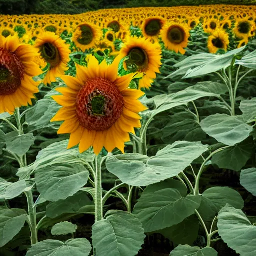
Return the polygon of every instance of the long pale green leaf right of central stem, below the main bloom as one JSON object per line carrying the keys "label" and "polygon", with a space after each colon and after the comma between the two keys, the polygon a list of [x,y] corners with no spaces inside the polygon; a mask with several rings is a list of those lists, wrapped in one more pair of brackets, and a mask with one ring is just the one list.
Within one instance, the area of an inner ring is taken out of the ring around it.
{"label": "long pale green leaf right of central stem, below the main bloom", "polygon": [[201,142],[176,141],[143,161],[118,160],[112,155],[107,158],[106,167],[128,185],[146,186],[178,175],[205,151],[207,145]]}

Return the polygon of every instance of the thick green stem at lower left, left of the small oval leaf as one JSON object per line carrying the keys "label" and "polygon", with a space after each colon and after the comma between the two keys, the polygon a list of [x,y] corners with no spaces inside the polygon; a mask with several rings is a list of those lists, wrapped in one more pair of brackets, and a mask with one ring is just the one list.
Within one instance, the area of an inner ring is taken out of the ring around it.
{"label": "thick green stem at lower left, left of the small oval leaf", "polygon": [[31,232],[31,244],[33,245],[38,242],[37,229],[36,229],[36,206],[34,207],[32,188],[27,187],[24,190],[24,193],[27,199],[28,217],[29,217],[28,225]]}

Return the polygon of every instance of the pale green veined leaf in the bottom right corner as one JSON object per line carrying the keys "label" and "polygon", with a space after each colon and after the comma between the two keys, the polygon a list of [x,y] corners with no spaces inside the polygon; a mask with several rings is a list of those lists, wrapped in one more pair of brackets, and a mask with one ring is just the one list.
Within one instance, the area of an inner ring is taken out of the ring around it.
{"label": "pale green veined leaf in the bottom right corner", "polygon": [[240,256],[256,254],[256,226],[241,210],[226,205],[218,213],[217,226],[222,240]]}

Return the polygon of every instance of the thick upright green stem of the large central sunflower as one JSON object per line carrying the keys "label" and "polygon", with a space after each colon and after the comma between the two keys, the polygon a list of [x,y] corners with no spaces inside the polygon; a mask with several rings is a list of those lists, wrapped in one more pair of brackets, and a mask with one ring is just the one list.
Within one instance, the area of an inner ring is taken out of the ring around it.
{"label": "thick upright green stem of the large central sunflower", "polygon": [[101,154],[95,156],[95,222],[103,219],[102,187],[101,187]]}

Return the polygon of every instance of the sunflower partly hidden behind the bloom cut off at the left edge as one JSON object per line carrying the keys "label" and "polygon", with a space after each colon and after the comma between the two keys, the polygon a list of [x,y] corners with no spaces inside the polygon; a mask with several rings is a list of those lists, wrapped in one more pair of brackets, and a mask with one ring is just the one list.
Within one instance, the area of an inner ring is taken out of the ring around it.
{"label": "sunflower partly hidden behind the bloom cut off at the left edge", "polygon": [[71,53],[69,46],[58,35],[52,32],[40,33],[34,46],[45,62],[50,65],[50,69],[43,80],[45,84],[50,84],[56,80],[58,75],[64,74],[68,69],[67,62]]}

